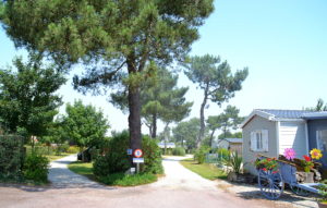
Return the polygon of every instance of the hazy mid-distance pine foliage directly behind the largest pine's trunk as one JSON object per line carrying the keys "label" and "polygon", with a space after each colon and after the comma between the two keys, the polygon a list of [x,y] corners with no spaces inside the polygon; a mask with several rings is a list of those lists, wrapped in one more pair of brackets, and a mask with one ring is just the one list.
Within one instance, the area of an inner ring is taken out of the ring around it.
{"label": "hazy mid-distance pine foliage directly behind the largest pine's trunk", "polygon": [[[178,77],[167,69],[158,69],[141,86],[142,118],[153,138],[157,137],[157,120],[166,123],[179,122],[191,111],[193,103],[186,102],[184,97],[189,88],[178,88]],[[113,105],[123,111],[128,110],[128,95],[124,89],[111,94],[111,97]]]}

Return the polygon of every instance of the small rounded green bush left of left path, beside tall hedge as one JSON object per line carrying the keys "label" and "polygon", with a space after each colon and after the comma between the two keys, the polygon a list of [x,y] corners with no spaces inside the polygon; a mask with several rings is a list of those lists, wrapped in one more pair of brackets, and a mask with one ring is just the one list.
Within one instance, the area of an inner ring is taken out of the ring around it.
{"label": "small rounded green bush left of left path, beside tall hedge", "polygon": [[36,152],[32,152],[25,159],[23,167],[24,176],[34,182],[46,183],[48,181],[49,160]]}

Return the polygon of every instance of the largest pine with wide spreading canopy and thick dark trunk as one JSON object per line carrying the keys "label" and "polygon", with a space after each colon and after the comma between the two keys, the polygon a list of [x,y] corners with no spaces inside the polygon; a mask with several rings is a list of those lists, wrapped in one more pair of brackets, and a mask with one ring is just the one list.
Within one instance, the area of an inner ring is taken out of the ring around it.
{"label": "largest pine with wide spreading canopy and thick dark trunk", "polygon": [[70,65],[85,63],[74,78],[80,90],[122,83],[129,74],[131,148],[141,148],[140,82],[145,66],[183,60],[213,0],[20,0],[7,1],[0,19],[16,47]]}

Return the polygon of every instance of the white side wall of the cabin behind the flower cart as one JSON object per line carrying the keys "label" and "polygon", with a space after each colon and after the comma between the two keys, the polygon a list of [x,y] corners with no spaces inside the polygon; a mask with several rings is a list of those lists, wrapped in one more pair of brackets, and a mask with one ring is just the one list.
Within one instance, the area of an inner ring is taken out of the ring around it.
{"label": "white side wall of the cabin behind the flower cart", "polygon": [[306,155],[305,122],[280,122],[279,126],[279,154],[286,148],[293,148],[296,158]]}

